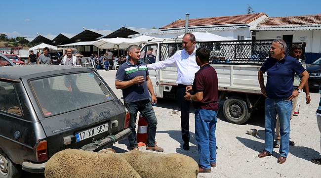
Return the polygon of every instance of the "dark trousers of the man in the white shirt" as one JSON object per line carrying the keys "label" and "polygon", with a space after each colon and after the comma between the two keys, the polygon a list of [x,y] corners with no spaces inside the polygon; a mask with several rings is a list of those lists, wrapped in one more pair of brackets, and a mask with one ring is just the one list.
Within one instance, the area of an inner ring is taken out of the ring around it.
{"label": "dark trousers of the man in the white shirt", "polygon": [[190,101],[185,100],[186,85],[178,84],[177,99],[181,110],[182,139],[184,142],[190,141]]}

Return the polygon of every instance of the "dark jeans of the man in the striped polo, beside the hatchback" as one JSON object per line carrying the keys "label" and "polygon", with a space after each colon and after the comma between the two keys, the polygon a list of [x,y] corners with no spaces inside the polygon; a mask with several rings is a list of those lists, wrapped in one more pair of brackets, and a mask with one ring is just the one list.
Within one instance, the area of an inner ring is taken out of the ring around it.
{"label": "dark jeans of the man in the striped polo, beside the hatchback", "polygon": [[156,126],[157,126],[157,118],[149,99],[125,103],[125,107],[127,108],[130,114],[130,121],[128,128],[131,131],[131,134],[128,136],[130,148],[133,149],[137,147],[136,140],[136,119],[137,112],[139,111],[147,122],[147,146],[155,146],[155,135],[156,135]]}

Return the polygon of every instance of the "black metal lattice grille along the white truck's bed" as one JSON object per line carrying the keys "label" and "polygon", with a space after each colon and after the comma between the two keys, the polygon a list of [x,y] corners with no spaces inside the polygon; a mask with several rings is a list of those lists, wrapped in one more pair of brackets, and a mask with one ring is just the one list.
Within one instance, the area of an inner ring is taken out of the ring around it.
{"label": "black metal lattice grille along the white truck's bed", "polygon": [[[270,54],[273,40],[242,40],[242,41],[220,41],[220,42],[199,42],[196,48],[207,47],[210,49],[210,63],[215,64],[262,64]],[[305,43],[287,43],[286,52],[292,45],[302,46],[302,56],[304,59]],[[161,60],[172,56],[176,50],[182,50],[182,43],[161,44]]]}

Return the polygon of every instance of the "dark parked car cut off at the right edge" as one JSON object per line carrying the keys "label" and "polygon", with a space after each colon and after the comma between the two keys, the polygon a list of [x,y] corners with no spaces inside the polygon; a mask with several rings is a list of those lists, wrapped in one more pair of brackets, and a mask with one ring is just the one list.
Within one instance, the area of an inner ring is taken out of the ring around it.
{"label": "dark parked car cut off at the right edge", "polygon": [[307,71],[309,73],[309,88],[311,89],[319,89],[319,85],[321,85],[321,57],[314,61],[311,64],[307,65]]}

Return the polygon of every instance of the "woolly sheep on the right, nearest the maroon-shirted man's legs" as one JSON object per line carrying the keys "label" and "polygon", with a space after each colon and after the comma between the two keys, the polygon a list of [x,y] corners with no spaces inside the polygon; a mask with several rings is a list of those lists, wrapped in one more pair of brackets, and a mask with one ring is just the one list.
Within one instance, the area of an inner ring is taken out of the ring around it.
{"label": "woolly sheep on the right, nearest the maroon-shirted man's legs", "polygon": [[157,154],[131,150],[125,153],[107,154],[120,155],[142,178],[197,178],[199,165],[189,156],[171,153]]}

